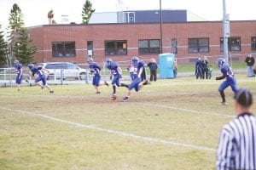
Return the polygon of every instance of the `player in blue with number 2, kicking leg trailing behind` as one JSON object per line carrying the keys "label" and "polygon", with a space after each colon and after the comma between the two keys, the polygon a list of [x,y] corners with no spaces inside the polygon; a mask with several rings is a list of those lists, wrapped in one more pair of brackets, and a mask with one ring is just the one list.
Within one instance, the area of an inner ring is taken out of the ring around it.
{"label": "player in blue with number 2, kicking leg trailing behind", "polygon": [[150,84],[150,82],[148,82],[147,80],[143,83],[142,82],[142,73],[143,73],[143,68],[144,68],[144,61],[140,60],[138,57],[132,57],[131,59],[132,65],[134,66],[134,71],[133,71],[133,76],[134,76],[134,80],[131,82],[131,84],[129,85],[129,91],[126,94],[125,98],[123,99],[123,101],[128,101],[130,95],[131,95],[131,90],[134,88],[136,92],[138,92],[140,89],[143,88],[144,85],[148,85]]}

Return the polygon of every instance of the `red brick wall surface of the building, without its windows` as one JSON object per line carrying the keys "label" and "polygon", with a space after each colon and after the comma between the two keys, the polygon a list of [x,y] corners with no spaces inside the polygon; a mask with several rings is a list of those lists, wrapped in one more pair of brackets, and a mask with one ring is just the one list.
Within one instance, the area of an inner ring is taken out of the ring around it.
{"label": "red brick wall surface of the building, without its windows", "polygon": [[[111,58],[129,60],[138,54],[139,39],[160,39],[159,24],[106,24],[106,25],[54,25],[30,28],[33,44],[38,47],[35,59],[44,61],[71,61],[84,63],[87,60],[87,41],[93,41],[94,55],[98,62]],[[219,38],[223,37],[222,22],[189,22],[163,24],[163,52],[170,53],[171,40],[177,38],[177,58],[189,62],[189,57],[198,54],[188,53],[188,38],[209,37],[210,52],[206,56],[220,56]],[[256,37],[256,20],[231,21],[231,37],[241,37],[241,52],[232,52],[233,56],[251,53],[251,37]],[[105,56],[104,41],[127,40],[128,53],[124,56]],[[52,56],[52,42],[71,42],[76,45],[76,57],[56,58]],[[142,59],[157,58],[157,54],[140,55]]]}

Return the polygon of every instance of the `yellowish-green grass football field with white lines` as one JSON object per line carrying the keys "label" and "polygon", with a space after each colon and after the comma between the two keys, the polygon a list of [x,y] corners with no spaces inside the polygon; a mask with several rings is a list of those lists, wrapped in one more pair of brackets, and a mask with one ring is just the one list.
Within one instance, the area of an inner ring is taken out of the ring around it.
{"label": "yellowish-green grass football field with white lines", "polygon": [[[0,88],[0,169],[214,169],[218,134],[235,117],[230,88],[219,105],[221,82],[160,80],[126,103],[125,88],[115,102],[106,86]],[[256,94],[255,78],[237,82]]]}

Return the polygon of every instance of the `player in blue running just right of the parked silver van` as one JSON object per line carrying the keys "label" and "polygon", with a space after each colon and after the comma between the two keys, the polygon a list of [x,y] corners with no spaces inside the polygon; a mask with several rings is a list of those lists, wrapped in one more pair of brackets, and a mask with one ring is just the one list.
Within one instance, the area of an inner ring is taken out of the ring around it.
{"label": "player in blue running just right of the parked silver van", "polygon": [[101,94],[99,91],[99,86],[101,85],[106,85],[108,86],[108,82],[101,82],[101,67],[96,63],[93,62],[93,59],[88,59],[88,64],[89,64],[89,69],[90,69],[90,74],[93,74],[93,79],[92,79],[92,85],[96,89],[96,94]]}

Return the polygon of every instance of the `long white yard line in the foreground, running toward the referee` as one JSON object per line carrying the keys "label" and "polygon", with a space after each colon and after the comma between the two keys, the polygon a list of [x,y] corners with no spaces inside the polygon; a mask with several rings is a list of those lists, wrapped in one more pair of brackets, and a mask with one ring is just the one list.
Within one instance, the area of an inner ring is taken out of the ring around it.
{"label": "long white yard line in the foreground, running toward the referee", "polygon": [[199,145],[194,145],[194,144],[183,144],[183,143],[167,141],[167,140],[163,140],[163,139],[154,139],[154,138],[139,136],[139,135],[133,134],[133,133],[125,133],[125,132],[116,131],[116,130],[112,130],[112,129],[108,129],[108,128],[96,127],[96,126],[93,126],[93,125],[86,125],[86,124],[82,124],[82,123],[69,122],[69,121],[58,119],[58,118],[55,118],[55,117],[52,117],[52,116],[46,116],[46,115],[39,114],[39,113],[36,113],[36,112],[31,112],[31,111],[20,111],[20,110],[5,108],[5,107],[2,107],[2,106],[0,106],[0,109],[3,110],[3,111],[10,111],[10,112],[15,111],[15,112],[23,113],[23,114],[26,114],[26,115],[41,116],[41,117],[44,117],[45,119],[48,119],[48,120],[51,120],[51,121],[54,121],[54,122],[63,122],[63,123],[67,123],[67,124],[70,124],[70,125],[77,126],[77,127],[90,128],[90,129],[93,129],[93,130],[96,130],[96,131],[101,131],[101,132],[105,132],[105,133],[112,133],[112,134],[115,134],[115,135],[118,135],[118,136],[131,137],[131,138],[134,138],[134,139],[142,139],[142,140],[148,141],[150,143],[166,144],[166,145],[177,145],[177,146],[192,148],[192,149],[195,149],[195,150],[207,150],[207,151],[216,152],[216,149],[206,147],[206,146],[199,146]]}

